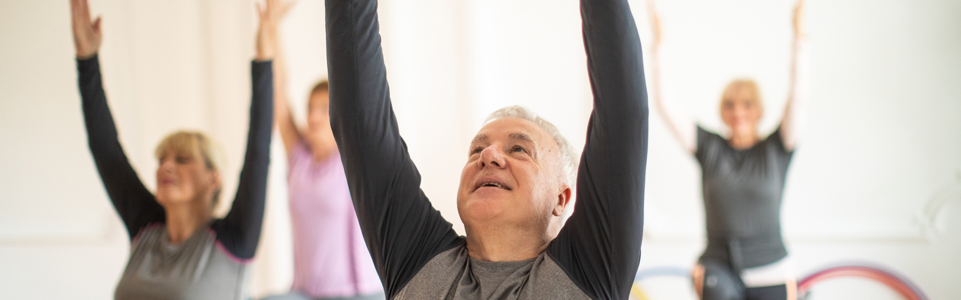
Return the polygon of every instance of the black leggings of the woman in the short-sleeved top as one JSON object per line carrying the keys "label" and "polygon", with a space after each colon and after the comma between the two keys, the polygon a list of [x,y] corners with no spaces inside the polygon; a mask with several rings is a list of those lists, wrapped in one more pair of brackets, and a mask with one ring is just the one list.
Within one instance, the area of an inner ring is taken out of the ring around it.
{"label": "black leggings of the woman in the short-sleeved top", "polygon": [[727,265],[713,260],[702,260],[704,276],[702,300],[786,300],[787,285],[745,287],[741,275]]}

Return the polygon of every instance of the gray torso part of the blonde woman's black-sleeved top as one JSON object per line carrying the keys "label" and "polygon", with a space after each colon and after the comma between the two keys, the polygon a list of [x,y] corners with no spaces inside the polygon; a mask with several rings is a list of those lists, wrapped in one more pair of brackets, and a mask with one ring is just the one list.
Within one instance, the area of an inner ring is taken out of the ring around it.
{"label": "gray torso part of the blonde woman's black-sleeved top", "polygon": [[169,242],[167,228],[148,226],[136,236],[114,299],[224,299],[247,297],[247,263],[216,241],[209,227],[184,242]]}

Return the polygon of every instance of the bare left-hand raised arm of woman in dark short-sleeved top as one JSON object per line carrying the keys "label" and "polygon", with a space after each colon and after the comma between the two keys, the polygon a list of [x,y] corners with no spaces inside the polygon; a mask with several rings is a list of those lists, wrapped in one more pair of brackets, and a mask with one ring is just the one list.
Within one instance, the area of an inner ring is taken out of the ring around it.
{"label": "bare left-hand raised arm of woman in dark short-sleeved top", "polygon": [[651,67],[653,71],[653,74],[651,74],[651,83],[654,87],[651,96],[654,99],[654,106],[657,108],[657,112],[660,113],[661,118],[664,119],[664,122],[671,131],[671,134],[678,138],[680,146],[684,147],[687,152],[694,153],[694,151],[697,149],[697,131],[695,129],[694,121],[689,115],[686,115],[683,112],[678,112],[677,108],[664,102],[664,86],[661,84],[660,73],[661,24],[660,17],[657,15],[653,1],[648,1],[648,13],[651,13],[651,27],[654,31],[654,44],[653,50],[651,51],[651,63],[653,64]]}

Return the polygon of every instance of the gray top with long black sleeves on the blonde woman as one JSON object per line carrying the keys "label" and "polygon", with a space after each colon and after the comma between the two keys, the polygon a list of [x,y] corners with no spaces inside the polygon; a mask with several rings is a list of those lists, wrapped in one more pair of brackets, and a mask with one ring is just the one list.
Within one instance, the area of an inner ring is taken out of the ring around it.
{"label": "gray top with long black sleeves on the blonde woman", "polygon": [[[252,63],[247,152],[230,213],[178,245],[169,243],[163,208],[140,182],[117,139],[97,57],[78,60],[77,70],[90,152],[133,243],[116,299],[242,298],[266,198],[274,115],[271,62]],[[214,247],[221,251],[210,251]]]}

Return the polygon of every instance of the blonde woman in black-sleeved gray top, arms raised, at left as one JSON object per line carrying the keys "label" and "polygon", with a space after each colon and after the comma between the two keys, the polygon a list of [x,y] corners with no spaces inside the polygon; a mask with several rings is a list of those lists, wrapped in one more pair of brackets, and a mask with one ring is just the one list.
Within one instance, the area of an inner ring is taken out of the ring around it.
{"label": "blonde woman in black-sleeved gray top, arms raised, at left", "polygon": [[271,59],[276,10],[260,10],[247,154],[230,213],[213,217],[221,155],[200,133],[177,132],[157,147],[157,191],[137,178],[120,142],[102,87],[100,18],[71,0],[77,70],[87,138],[97,170],[131,238],[115,299],[245,299],[244,279],[260,236],[273,122]]}

